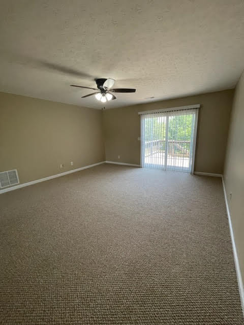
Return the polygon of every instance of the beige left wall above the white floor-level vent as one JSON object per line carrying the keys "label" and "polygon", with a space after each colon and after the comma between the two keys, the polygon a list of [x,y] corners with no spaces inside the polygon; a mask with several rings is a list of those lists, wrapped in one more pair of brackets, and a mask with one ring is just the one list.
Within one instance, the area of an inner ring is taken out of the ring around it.
{"label": "beige left wall above the white floor-level vent", "polygon": [[102,111],[0,92],[0,117],[0,172],[20,183],[105,160]]}

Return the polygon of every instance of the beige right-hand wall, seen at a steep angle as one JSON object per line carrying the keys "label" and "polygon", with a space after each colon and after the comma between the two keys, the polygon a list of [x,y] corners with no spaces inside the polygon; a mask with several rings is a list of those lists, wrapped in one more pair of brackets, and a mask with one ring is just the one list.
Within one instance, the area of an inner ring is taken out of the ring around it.
{"label": "beige right-hand wall, seen at a steep angle", "polygon": [[[235,89],[224,181],[242,282],[244,283],[244,72]],[[232,193],[231,200],[230,193]]]}

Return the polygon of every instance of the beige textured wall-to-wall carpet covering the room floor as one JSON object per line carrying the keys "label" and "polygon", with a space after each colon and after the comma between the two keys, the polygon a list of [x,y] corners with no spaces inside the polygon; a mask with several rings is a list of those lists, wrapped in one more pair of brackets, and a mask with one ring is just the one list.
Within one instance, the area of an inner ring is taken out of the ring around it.
{"label": "beige textured wall-to-wall carpet covering the room floor", "polygon": [[218,178],[101,165],[0,204],[1,324],[243,323]]}

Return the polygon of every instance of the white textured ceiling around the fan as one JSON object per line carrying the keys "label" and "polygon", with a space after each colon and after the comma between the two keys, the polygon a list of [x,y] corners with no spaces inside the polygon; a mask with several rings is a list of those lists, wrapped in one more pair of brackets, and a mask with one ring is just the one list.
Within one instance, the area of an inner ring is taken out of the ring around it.
{"label": "white textured ceiling around the fan", "polygon": [[[101,108],[233,88],[244,69],[243,0],[2,0],[0,91]],[[93,92],[93,91],[90,91]],[[154,96],[154,99],[148,99]]]}

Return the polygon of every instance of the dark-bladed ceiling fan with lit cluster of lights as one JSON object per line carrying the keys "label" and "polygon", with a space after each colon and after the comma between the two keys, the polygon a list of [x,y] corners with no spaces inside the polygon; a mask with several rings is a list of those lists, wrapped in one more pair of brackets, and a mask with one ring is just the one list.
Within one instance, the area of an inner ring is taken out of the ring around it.
{"label": "dark-bladed ceiling fan with lit cluster of lights", "polygon": [[88,95],[82,96],[81,98],[95,95],[96,99],[98,101],[101,101],[102,103],[105,103],[110,100],[116,100],[116,97],[114,96],[113,92],[135,92],[136,91],[136,89],[133,89],[133,88],[113,88],[113,89],[111,89],[115,83],[115,80],[111,79],[111,78],[96,79],[96,83],[97,83],[97,89],[90,88],[90,87],[84,87],[84,86],[77,86],[77,85],[71,85],[71,86],[99,90],[96,92],[89,93]]}

